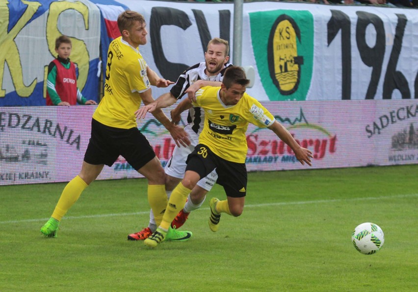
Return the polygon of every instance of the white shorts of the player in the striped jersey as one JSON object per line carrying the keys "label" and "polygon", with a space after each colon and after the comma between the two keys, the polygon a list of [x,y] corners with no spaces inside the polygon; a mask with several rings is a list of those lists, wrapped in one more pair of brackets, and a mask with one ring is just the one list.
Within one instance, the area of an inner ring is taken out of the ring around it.
{"label": "white shorts of the player in the striped jersey", "polygon": [[[177,178],[184,177],[184,172],[186,171],[187,156],[193,152],[194,147],[199,142],[199,136],[191,129],[190,124],[186,125],[184,130],[189,135],[188,138],[191,144],[187,147],[175,146],[173,154],[171,155],[164,169],[166,174]],[[213,170],[206,177],[199,180],[197,185],[209,192],[213,185],[216,183],[217,179],[218,174],[216,173],[216,170]]]}

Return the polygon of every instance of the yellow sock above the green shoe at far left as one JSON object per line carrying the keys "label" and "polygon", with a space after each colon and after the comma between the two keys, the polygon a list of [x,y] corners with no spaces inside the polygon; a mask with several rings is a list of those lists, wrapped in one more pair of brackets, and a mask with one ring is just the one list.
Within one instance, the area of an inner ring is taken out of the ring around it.
{"label": "yellow sock above the green shoe at far left", "polygon": [[86,182],[78,175],[73,178],[62,191],[51,217],[61,221],[67,211],[74,205],[75,202],[77,202],[79,196],[87,187],[88,184],[86,184]]}

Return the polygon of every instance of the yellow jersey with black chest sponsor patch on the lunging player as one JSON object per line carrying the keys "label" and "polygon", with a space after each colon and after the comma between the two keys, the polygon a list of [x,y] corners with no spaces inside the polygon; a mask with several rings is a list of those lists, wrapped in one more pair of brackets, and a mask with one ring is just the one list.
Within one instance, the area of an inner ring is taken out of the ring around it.
{"label": "yellow jersey with black chest sponsor patch on the lunging player", "polygon": [[245,163],[249,123],[269,127],[274,117],[254,97],[244,93],[235,105],[225,105],[219,96],[220,87],[203,87],[196,92],[193,106],[205,110],[205,123],[199,136],[204,144],[219,157],[236,163]]}

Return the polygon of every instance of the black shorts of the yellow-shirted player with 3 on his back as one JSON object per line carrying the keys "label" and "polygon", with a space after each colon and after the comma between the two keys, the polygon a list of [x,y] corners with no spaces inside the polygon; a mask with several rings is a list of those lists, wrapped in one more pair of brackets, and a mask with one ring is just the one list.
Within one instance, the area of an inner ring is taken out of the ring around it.
{"label": "black shorts of the yellow-shirted player with 3 on his back", "polygon": [[91,137],[84,161],[93,165],[112,166],[119,155],[134,170],[139,170],[156,156],[147,138],[138,128],[114,128],[92,119]]}

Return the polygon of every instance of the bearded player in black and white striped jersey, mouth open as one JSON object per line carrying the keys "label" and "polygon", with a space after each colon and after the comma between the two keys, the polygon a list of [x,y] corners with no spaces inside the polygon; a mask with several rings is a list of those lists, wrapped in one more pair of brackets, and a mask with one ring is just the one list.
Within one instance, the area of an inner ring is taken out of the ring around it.
{"label": "bearded player in black and white striped jersey, mouth open", "polygon": [[[194,97],[197,90],[204,86],[220,86],[224,76],[225,70],[232,66],[228,64],[229,61],[229,44],[228,41],[214,38],[209,41],[207,51],[205,52],[205,62],[198,63],[187,68],[177,79],[176,84],[171,88],[170,92],[161,95],[154,102],[141,107],[136,116],[140,119],[145,117],[147,112],[153,112],[159,108],[165,108],[174,104],[181,99],[185,94],[189,97]],[[189,107],[190,102],[183,100],[172,111],[172,122],[178,123],[180,121],[180,113],[184,108]],[[184,127],[185,132],[191,142],[190,146],[175,146],[173,154],[165,167],[166,179],[165,190],[167,196],[170,197],[171,192],[183,179],[186,169],[186,159],[194,147],[198,144],[199,134],[203,129],[204,111],[200,107],[192,107],[189,109],[187,122]],[[216,171],[213,170],[208,176],[201,179],[192,192],[188,195],[187,203],[183,210],[179,212],[176,218],[171,223],[173,228],[179,228],[187,219],[189,213],[198,209],[205,200],[205,195],[210,191],[217,179]],[[157,230],[157,224],[154,220],[154,214],[150,212],[150,222],[148,227],[141,231],[132,233],[128,236],[129,240],[145,240],[154,231]]]}

